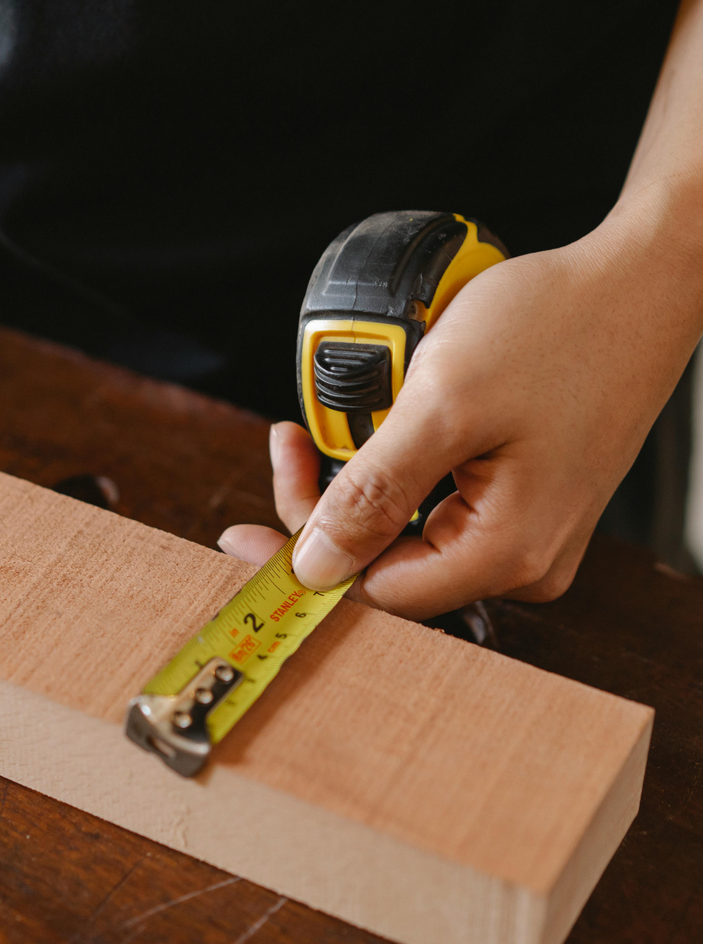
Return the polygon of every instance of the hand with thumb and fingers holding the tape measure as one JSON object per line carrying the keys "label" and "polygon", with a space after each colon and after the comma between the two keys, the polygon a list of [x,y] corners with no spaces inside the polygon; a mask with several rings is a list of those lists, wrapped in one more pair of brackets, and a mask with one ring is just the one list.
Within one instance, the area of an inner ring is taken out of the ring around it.
{"label": "hand with thumb and fingers holding the tape measure", "polygon": [[[307,521],[301,582],[326,590],[363,571],[349,596],[414,619],[561,595],[700,329],[697,280],[661,253],[652,219],[630,201],[576,244],[473,279],[323,497],[308,433],[272,428],[277,512],[291,531]],[[458,491],[422,539],[398,537],[449,471]],[[239,526],[221,546],[263,563],[284,541]]]}

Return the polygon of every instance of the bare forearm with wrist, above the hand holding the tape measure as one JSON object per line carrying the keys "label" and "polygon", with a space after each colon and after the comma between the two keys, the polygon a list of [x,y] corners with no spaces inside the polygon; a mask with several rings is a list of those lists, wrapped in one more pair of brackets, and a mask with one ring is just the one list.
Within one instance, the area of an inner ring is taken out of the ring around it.
{"label": "bare forearm with wrist, above the hand holding the tape measure", "polygon": [[679,9],[616,205],[562,252],[610,308],[603,328],[653,422],[703,333],[703,0]]}

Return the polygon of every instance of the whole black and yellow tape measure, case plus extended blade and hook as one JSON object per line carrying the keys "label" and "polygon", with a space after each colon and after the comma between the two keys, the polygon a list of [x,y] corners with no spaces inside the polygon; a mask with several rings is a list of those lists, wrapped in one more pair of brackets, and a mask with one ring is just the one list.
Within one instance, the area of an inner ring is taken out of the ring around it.
{"label": "whole black and yellow tape measure, case plus extended blade and hook", "polygon": [[[388,415],[415,348],[452,298],[507,257],[477,220],[429,211],[377,213],[327,246],[310,278],[297,347],[303,416],[327,464],[323,487]],[[443,489],[456,489],[451,476],[406,532],[422,533]],[[355,580],[326,593],[304,587],[291,563],[297,537],[129,702],[127,736],[186,777],[204,767]]]}

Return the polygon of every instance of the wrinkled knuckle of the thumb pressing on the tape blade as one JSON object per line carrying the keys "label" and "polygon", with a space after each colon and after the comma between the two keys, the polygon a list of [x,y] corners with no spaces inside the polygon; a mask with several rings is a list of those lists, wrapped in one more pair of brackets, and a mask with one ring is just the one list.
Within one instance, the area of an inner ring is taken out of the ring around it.
{"label": "wrinkled knuckle of the thumb pressing on the tape blade", "polygon": [[411,512],[399,482],[377,467],[356,473],[353,468],[337,482],[336,512],[356,531],[381,540],[395,537]]}

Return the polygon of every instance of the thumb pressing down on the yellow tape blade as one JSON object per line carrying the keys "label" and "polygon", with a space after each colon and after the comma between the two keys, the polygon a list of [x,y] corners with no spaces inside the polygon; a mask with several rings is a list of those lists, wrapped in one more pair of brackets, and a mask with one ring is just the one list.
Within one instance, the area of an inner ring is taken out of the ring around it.
{"label": "thumb pressing down on the yellow tape blade", "polygon": [[[455,464],[447,410],[427,396],[421,371],[408,379],[383,425],[344,465],[298,538],[293,569],[330,590],[387,548]],[[446,407],[446,403],[444,403]]]}

